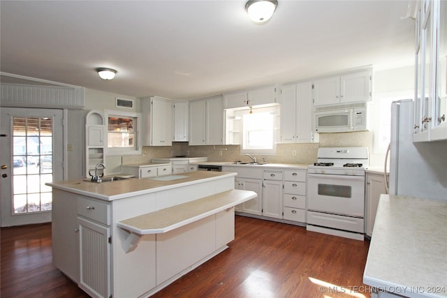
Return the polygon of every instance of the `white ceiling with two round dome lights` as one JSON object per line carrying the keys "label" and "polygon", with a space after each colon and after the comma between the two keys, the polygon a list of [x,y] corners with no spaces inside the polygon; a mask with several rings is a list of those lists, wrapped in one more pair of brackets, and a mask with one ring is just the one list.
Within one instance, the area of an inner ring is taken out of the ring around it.
{"label": "white ceiling with two round dome lights", "polygon": [[[0,1],[0,70],[128,96],[191,99],[372,64],[413,64],[409,1]],[[95,68],[115,68],[101,80]],[[2,76],[5,82],[5,76]]]}

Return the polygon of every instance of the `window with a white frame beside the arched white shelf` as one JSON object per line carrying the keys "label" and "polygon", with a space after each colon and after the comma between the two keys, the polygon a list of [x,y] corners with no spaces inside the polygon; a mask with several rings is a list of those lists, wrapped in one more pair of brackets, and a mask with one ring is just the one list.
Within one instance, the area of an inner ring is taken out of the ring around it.
{"label": "window with a white frame beside the arched white shelf", "polygon": [[139,144],[139,114],[105,111],[108,119],[107,154],[126,155],[141,152]]}

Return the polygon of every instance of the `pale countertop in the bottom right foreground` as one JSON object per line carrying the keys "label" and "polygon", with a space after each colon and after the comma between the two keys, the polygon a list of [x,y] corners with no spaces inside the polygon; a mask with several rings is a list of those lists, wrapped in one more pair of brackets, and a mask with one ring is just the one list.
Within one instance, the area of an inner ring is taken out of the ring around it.
{"label": "pale countertop in the bottom right foreground", "polygon": [[404,297],[447,297],[447,201],[381,195],[363,283]]}

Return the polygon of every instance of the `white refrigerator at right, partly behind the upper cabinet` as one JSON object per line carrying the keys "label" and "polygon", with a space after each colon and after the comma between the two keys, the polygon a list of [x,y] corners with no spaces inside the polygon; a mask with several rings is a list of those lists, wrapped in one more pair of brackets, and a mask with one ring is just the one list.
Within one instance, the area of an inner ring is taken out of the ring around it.
{"label": "white refrigerator at right, partly behind the upper cabinet", "polygon": [[413,143],[413,101],[391,105],[390,194],[447,200],[447,142]]}

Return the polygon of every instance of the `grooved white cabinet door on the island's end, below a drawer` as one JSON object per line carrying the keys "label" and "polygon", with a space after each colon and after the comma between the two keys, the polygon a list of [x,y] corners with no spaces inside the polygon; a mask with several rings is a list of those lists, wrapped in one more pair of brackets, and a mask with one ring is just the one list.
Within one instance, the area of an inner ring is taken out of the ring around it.
{"label": "grooved white cabinet door on the island's end, below a drawer", "polygon": [[78,217],[79,287],[92,297],[110,297],[110,228]]}

